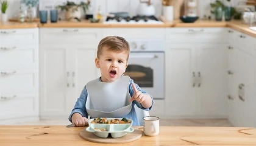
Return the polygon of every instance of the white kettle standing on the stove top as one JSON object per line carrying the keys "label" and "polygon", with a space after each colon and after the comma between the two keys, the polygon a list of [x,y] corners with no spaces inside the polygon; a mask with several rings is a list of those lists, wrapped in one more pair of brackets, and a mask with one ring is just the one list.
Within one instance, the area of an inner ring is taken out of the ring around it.
{"label": "white kettle standing on the stove top", "polygon": [[154,5],[151,4],[151,0],[141,1],[137,8],[137,14],[140,16],[154,16],[155,8]]}

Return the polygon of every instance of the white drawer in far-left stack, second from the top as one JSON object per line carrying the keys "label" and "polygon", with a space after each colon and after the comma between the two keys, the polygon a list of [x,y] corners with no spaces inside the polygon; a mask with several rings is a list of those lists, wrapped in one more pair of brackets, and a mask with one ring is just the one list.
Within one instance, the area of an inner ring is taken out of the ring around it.
{"label": "white drawer in far-left stack, second from the top", "polygon": [[38,66],[38,44],[6,44],[0,47],[0,69]]}

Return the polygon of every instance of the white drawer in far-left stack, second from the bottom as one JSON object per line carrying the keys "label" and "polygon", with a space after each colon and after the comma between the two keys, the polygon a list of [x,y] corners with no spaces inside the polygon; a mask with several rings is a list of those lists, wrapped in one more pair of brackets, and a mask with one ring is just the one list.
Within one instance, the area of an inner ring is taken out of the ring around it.
{"label": "white drawer in far-left stack, second from the bottom", "polygon": [[10,91],[34,91],[37,88],[37,69],[0,70],[0,93]]}

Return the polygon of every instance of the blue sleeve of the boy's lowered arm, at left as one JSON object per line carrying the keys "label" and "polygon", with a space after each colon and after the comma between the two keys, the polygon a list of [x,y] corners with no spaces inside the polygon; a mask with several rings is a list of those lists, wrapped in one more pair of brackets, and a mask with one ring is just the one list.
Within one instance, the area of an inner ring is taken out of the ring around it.
{"label": "blue sleeve of the boy's lowered arm, at left", "polygon": [[82,117],[86,117],[88,118],[88,113],[85,109],[85,102],[87,100],[87,89],[86,87],[84,87],[84,89],[82,90],[80,97],[77,99],[76,104],[74,105],[74,108],[71,112],[71,114],[69,115],[68,119],[70,122],[72,122],[72,116],[75,113],[80,114]]}

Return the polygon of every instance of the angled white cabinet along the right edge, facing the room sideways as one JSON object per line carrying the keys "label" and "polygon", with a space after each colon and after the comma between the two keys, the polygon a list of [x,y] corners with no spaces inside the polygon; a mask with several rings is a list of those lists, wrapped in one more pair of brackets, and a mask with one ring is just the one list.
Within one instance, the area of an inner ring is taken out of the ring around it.
{"label": "angled white cabinet along the right edge, facing the room sideways", "polygon": [[256,38],[229,29],[228,107],[235,127],[255,127],[255,42]]}

